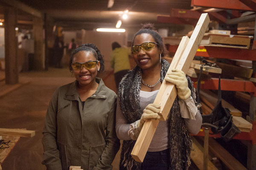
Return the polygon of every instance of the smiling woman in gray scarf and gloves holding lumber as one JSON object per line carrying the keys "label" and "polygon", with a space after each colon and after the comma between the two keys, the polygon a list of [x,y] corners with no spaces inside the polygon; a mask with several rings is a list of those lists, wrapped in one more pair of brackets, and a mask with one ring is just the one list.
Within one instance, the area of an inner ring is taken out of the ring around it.
{"label": "smiling woman in gray scarf and gloves holding lumber", "polygon": [[[162,37],[151,24],[134,36],[131,47],[137,66],[122,79],[118,89],[116,134],[123,141],[120,170],[187,170],[192,141],[202,117],[195,106],[192,81],[180,70],[167,72],[169,63],[161,60],[165,52]],[[160,121],[143,163],[131,151],[146,119],[160,118],[160,105],[153,104],[164,80],[175,84],[175,99],[169,118]]]}

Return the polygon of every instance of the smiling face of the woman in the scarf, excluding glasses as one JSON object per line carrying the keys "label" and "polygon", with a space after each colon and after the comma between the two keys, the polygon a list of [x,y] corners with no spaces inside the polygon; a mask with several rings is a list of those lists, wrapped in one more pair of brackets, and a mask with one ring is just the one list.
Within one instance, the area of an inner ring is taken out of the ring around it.
{"label": "smiling face of the woman in the scarf, excluding glasses", "polygon": [[[146,33],[137,35],[134,38],[134,45],[140,45],[145,42],[156,43],[154,38],[150,34]],[[140,49],[140,51],[133,54],[133,56],[134,61],[143,70],[150,69],[160,63],[160,52],[157,45],[155,45],[155,47],[150,49],[149,51],[144,51],[143,49]]]}

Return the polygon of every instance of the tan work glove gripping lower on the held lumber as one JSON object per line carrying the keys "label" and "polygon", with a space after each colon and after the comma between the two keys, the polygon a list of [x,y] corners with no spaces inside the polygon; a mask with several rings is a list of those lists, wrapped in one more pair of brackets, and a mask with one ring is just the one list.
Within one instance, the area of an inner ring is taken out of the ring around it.
{"label": "tan work glove gripping lower on the held lumber", "polygon": [[138,128],[141,130],[143,127],[143,124],[147,119],[152,118],[160,118],[160,104],[148,104],[148,106],[143,110],[143,114],[140,117],[140,122],[138,123]]}

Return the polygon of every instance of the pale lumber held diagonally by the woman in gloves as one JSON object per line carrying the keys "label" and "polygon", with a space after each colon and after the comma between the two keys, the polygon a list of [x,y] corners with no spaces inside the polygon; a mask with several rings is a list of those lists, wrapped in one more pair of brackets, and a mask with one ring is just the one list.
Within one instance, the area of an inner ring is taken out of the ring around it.
{"label": "pale lumber held diagonally by the woman in gloves", "polygon": [[[184,49],[184,46],[180,46],[181,51],[177,50],[178,54],[180,55],[175,54],[177,58],[173,59],[174,64],[171,64],[169,69],[175,69],[175,68],[180,69],[186,74],[186,72],[189,69],[189,66],[192,63],[192,60],[195,56],[198,46],[204,36],[204,33],[207,29],[209,21],[210,20],[207,13],[201,15],[201,17],[198,20],[197,26],[195,27],[195,30],[192,36],[190,37],[190,40],[187,43],[185,49]],[[184,41],[183,43],[185,44],[186,38],[183,39],[183,41]],[[161,115],[163,117],[161,118],[161,120],[162,119],[166,120],[176,96],[177,96],[177,91],[175,86],[171,83],[163,81],[159,89],[159,92],[157,94],[157,97],[155,98],[155,101],[154,101],[154,103],[161,105]],[[158,123],[159,123],[159,120],[153,120],[153,119],[145,121],[145,124],[143,125],[140,135],[136,141],[136,144],[134,145],[134,148],[131,152],[131,155],[135,161],[139,161],[139,162],[143,161],[145,154],[148,150],[148,147],[151,143],[151,140],[154,136],[155,130],[157,129]]]}

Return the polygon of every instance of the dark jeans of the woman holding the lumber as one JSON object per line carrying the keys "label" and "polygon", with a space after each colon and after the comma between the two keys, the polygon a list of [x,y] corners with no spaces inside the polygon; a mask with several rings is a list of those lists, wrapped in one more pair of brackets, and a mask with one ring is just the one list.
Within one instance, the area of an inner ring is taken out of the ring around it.
{"label": "dark jeans of the woman holding the lumber", "polygon": [[170,166],[169,149],[147,152],[142,163],[142,170],[168,170]]}

